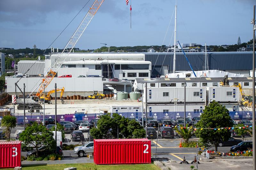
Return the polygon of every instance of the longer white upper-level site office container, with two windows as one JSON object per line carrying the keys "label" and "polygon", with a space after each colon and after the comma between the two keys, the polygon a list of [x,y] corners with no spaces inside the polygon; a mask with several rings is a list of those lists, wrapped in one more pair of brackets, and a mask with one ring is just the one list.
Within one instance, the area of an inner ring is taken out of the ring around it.
{"label": "longer white upper-level site office container, with two windows", "polygon": [[[143,95],[144,97],[145,95]],[[143,99],[145,101],[145,97]],[[184,102],[184,87],[160,87],[147,89],[148,103],[174,103]],[[186,102],[206,102],[205,87],[187,87]]]}

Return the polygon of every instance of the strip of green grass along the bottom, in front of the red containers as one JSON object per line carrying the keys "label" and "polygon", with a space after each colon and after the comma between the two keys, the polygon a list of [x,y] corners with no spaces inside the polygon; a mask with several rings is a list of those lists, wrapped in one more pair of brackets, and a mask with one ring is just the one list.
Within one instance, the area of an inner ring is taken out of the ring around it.
{"label": "strip of green grass along the bottom, in front of the red containers", "polygon": [[[154,164],[132,164],[132,165],[95,165],[94,163],[86,163],[86,164],[49,164],[46,166],[27,166],[22,167],[22,170],[59,170],[68,167],[76,167],[77,170],[160,170],[159,167],[155,166]],[[13,169],[13,168],[10,168]],[[10,170],[8,169],[8,170]],[[1,169],[7,170],[7,169]]]}

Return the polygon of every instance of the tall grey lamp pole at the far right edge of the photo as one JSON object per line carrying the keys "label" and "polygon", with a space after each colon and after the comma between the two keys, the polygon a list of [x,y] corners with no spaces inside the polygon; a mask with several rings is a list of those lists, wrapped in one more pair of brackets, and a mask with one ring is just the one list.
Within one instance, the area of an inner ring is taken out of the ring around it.
{"label": "tall grey lamp pole at the far right edge of the photo", "polygon": [[252,164],[256,170],[256,134],[255,134],[255,5],[253,5],[253,37],[252,37]]}

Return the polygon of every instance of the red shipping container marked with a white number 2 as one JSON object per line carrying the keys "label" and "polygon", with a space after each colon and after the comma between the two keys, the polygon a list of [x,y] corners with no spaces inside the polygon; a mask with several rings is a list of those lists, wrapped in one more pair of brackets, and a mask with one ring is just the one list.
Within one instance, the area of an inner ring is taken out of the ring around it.
{"label": "red shipping container marked with a white number 2", "polygon": [[148,139],[94,139],[95,164],[151,163]]}

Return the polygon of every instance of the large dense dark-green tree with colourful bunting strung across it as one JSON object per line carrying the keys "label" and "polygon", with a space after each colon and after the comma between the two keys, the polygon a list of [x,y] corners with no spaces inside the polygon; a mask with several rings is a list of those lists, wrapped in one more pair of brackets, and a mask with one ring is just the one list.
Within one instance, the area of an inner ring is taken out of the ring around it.
{"label": "large dense dark-green tree with colourful bunting strung across it", "polygon": [[225,129],[225,127],[233,126],[228,109],[213,101],[209,106],[205,106],[204,112],[200,117],[201,120],[196,123],[196,136],[200,138],[203,144],[211,143],[215,146],[215,150],[218,151],[220,139],[226,141],[231,135],[230,130]]}

